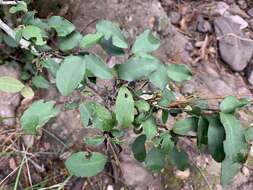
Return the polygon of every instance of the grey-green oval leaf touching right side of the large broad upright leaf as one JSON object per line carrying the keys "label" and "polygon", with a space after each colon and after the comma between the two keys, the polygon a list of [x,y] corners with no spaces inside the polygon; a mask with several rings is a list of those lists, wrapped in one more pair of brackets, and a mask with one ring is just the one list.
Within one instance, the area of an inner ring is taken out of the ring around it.
{"label": "grey-green oval leaf touching right side of the large broad upright leaf", "polygon": [[87,69],[96,77],[112,79],[112,70],[98,56],[90,54],[86,55],[84,59]]}

